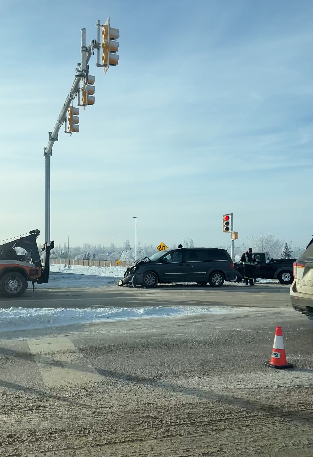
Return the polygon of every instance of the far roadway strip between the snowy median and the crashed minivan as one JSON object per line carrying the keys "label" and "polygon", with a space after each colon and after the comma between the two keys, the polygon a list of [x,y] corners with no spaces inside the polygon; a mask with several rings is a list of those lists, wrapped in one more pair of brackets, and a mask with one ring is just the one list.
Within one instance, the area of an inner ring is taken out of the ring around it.
{"label": "far roadway strip between the snowy median and the crashed minivan", "polygon": [[1,298],[0,308],[87,308],[102,306],[259,306],[290,307],[289,287],[279,283],[246,287],[244,284],[226,283],[223,287],[200,287],[198,285],[163,285],[153,289],[132,287],[93,287],[77,289],[26,290],[20,298]]}

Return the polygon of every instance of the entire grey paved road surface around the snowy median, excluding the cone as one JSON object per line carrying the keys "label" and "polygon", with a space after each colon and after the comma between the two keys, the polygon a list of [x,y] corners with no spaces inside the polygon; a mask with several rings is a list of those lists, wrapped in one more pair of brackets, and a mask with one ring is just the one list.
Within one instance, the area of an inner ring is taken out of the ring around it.
{"label": "entire grey paved road surface around the snowy median, excluding the cone", "polygon": [[[6,333],[0,455],[312,456],[313,323],[292,310],[284,287],[230,287],[119,289],[92,298],[123,306],[147,297],[233,300],[227,314]],[[51,299],[45,294],[36,302],[27,294],[22,306],[42,306]],[[263,364],[276,325],[293,370]]]}

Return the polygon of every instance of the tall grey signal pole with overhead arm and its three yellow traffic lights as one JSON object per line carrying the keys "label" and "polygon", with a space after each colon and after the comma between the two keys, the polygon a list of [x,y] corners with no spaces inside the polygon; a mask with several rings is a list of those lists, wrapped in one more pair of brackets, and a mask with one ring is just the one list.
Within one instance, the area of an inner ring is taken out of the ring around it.
{"label": "tall grey signal pole with overhead arm and its three yellow traffic lights", "polygon": [[[93,55],[93,50],[97,49],[97,67],[103,67],[104,73],[108,70],[110,65],[116,66],[118,64],[118,42],[116,37],[119,37],[118,29],[110,28],[110,18],[103,26],[100,25],[100,21],[96,23],[97,27],[97,40],[92,40],[87,47],[86,29],[81,29],[81,63],[77,64],[76,73],[72,87],[67,95],[67,98],[62,106],[62,110],[57,118],[56,125],[54,126],[53,132],[49,132],[49,141],[44,148],[45,156],[45,240],[46,243],[50,242],[50,157],[52,155],[53,144],[59,140],[58,133],[60,128],[65,123],[65,132],[72,134],[73,132],[79,131],[79,117],[76,107],[72,106],[72,101],[77,97],[78,106],[84,106],[94,104],[94,80],[95,77],[89,74],[88,62]],[[103,27],[103,43],[100,43],[100,27]],[[114,42],[114,43],[113,43]],[[100,64],[100,48],[105,44],[105,50],[103,49],[103,55],[107,55],[105,58],[105,64]],[[108,54],[105,54],[108,53]],[[80,88],[80,82],[82,81],[82,88]],[[80,101],[80,90],[82,90],[82,104]],[[72,108],[70,108],[72,106]],[[77,114],[76,114],[77,113]],[[68,118],[67,118],[68,117]],[[69,122],[68,128],[66,126],[67,121]]]}

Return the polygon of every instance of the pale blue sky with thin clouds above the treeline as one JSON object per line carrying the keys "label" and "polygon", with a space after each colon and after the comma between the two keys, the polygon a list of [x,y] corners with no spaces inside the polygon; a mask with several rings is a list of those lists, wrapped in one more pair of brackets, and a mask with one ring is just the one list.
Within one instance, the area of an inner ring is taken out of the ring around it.
{"label": "pale blue sky with thin clouds above the treeline", "polygon": [[[95,105],[51,157],[51,238],[226,245],[313,233],[313,4],[302,1],[1,2],[0,239],[44,233],[44,157],[95,23],[119,64],[90,60]],[[43,237],[41,239],[43,241]]]}

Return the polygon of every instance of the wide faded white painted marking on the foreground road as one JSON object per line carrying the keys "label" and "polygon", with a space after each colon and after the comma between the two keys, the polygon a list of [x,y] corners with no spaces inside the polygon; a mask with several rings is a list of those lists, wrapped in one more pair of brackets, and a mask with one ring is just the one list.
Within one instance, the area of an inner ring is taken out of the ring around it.
{"label": "wide faded white painted marking on the foreground road", "polygon": [[101,381],[93,367],[79,365],[82,354],[66,337],[29,340],[28,346],[47,387],[90,385]]}

